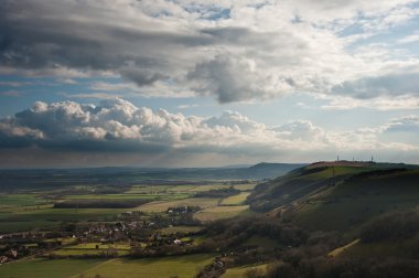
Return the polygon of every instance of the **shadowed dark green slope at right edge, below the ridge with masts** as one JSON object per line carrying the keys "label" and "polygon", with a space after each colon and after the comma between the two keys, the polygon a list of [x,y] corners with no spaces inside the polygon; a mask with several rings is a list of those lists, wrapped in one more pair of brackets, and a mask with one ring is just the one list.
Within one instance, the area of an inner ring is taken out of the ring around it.
{"label": "shadowed dark green slope at right edge, below the ridge with masts", "polygon": [[388,211],[419,204],[419,171],[361,174],[299,204],[299,222],[314,229],[348,231]]}

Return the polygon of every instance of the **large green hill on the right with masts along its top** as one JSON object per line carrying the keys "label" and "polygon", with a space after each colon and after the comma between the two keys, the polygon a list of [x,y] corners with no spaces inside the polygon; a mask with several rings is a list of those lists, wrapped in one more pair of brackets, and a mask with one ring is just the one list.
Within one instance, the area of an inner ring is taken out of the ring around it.
{"label": "large green hill on the right with masts along its top", "polygon": [[318,162],[259,184],[255,211],[281,213],[312,229],[348,231],[382,213],[419,203],[419,168],[372,162]]}

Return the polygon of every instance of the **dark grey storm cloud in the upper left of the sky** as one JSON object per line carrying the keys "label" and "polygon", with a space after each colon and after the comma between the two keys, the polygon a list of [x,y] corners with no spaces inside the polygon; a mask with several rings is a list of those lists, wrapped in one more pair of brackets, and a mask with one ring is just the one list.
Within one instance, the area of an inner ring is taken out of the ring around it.
{"label": "dark grey storm cloud in the upper left of the sky", "polygon": [[[0,63],[117,72],[133,64],[152,71],[174,63],[166,55],[170,50],[211,43],[198,33],[164,30],[141,14],[137,26],[129,25],[112,8],[88,1],[6,1],[0,8]],[[142,84],[138,77],[133,81]]]}

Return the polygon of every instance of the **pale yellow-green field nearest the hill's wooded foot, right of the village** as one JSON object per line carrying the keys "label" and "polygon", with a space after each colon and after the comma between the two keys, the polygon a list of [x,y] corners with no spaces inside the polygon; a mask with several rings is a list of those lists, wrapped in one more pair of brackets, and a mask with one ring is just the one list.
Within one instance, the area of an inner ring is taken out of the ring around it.
{"label": "pale yellow-green field nearest the hill's wooded foot, right of the village", "polygon": [[238,216],[245,212],[248,212],[248,209],[249,209],[248,205],[208,207],[203,211],[196,212],[194,214],[194,218],[202,222],[230,218],[230,217]]}

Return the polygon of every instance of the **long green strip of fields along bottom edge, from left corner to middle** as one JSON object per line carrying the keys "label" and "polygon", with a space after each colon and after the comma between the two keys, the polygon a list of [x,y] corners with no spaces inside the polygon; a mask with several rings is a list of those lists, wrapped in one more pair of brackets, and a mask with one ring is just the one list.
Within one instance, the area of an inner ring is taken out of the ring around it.
{"label": "long green strip of fields along bottom edge, from left corner to middle", "polygon": [[210,254],[146,259],[22,259],[0,266],[4,278],[64,277],[193,277],[214,256]]}

